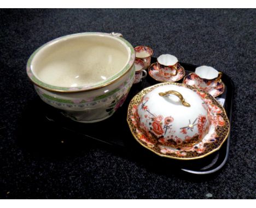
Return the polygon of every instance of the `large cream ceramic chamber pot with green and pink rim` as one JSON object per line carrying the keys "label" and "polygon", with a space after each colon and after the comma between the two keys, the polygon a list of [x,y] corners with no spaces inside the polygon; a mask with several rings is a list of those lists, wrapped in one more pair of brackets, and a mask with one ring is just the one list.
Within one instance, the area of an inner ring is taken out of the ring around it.
{"label": "large cream ceramic chamber pot with green and pink rim", "polygon": [[27,75],[40,98],[67,117],[94,123],[121,106],[135,78],[135,52],[119,33],[79,33],[38,48]]}

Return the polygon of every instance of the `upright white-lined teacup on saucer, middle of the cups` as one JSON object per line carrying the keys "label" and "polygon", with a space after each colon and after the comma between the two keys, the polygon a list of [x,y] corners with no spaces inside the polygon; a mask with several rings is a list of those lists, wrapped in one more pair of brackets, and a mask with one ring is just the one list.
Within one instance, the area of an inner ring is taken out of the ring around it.
{"label": "upright white-lined teacup on saucer, middle of the cups", "polygon": [[162,54],[158,57],[159,74],[162,77],[170,78],[178,74],[178,59],[171,54]]}

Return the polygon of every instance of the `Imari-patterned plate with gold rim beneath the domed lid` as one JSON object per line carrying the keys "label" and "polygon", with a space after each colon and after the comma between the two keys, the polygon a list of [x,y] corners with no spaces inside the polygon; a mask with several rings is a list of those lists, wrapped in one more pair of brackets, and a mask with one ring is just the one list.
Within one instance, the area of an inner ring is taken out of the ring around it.
{"label": "Imari-patterned plate with gold rim beneath the domed lid", "polygon": [[164,138],[156,139],[150,137],[150,134],[144,132],[138,127],[137,107],[143,96],[149,93],[149,91],[152,91],[155,87],[167,84],[173,83],[160,83],[156,84],[154,87],[145,88],[131,100],[127,113],[127,123],[133,137],[139,144],[150,151],[153,151],[155,154],[176,160],[195,160],[219,150],[222,144],[228,138],[230,131],[229,120],[225,109],[210,94],[207,94],[203,90],[194,87],[187,86],[189,89],[195,91],[202,97],[205,108],[207,108],[208,114],[210,115],[209,118],[211,123],[208,133],[200,142],[197,142],[189,147],[184,146],[181,148],[172,148],[170,145],[168,145],[168,141],[166,141]]}

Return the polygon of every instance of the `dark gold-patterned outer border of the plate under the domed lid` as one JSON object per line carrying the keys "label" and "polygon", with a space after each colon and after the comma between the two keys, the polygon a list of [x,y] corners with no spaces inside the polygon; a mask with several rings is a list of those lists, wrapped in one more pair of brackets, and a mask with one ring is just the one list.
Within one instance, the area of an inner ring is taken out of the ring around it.
{"label": "dark gold-patterned outer border of the plate under the domed lid", "polygon": [[132,100],[129,103],[129,107],[128,107],[128,111],[127,111],[127,123],[129,125],[129,128],[131,130],[131,133],[132,133],[133,137],[137,140],[137,142],[139,144],[144,146],[144,148],[147,148],[150,151],[153,151],[156,155],[159,155],[159,156],[162,156],[162,157],[167,157],[167,158],[172,158],[172,159],[176,159],[176,160],[195,160],[195,159],[199,159],[199,158],[202,158],[202,157],[206,157],[206,156],[212,154],[213,152],[216,152],[217,150],[219,150],[221,148],[221,146],[223,145],[223,143],[225,142],[225,140],[229,136],[230,124],[229,124],[229,119],[228,119],[228,116],[226,115],[225,109],[219,104],[219,102],[213,96],[211,96],[208,93],[206,93],[206,97],[205,98],[212,100],[214,105],[216,105],[220,109],[222,109],[222,113],[219,113],[218,115],[221,115],[223,117],[223,119],[225,121],[225,125],[217,127],[216,133],[217,133],[218,137],[217,137],[215,142],[213,142],[213,143],[205,143],[204,144],[204,147],[206,148],[205,151],[203,151],[202,153],[198,153],[196,151],[185,151],[187,153],[187,155],[185,155],[185,156],[177,155],[175,153],[162,154],[160,152],[159,146],[156,145],[156,144],[160,144],[158,141],[153,140],[152,138],[148,138],[150,140],[150,142],[155,144],[153,147],[150,147],[150,146],[147,146],[146,142],[143,142],[142,140],[139,139],[138,133],[136,132],[136,126],[134,124],[132,124],[132,120],[130,118],[130,115],[132,114],[132,106],[134,106],[134,105],[138,106],[139,103],[141,102],[142,97],[144,95],[146,95],[147,93],[149,93],[149,91],[152,91],[153,89],[155,89],[155,88],[157,88],[159,86],[171,85],[171,84],[184,86],[184,87],[189,88],[189,89],[191,89],[193,91],[200,91],[202,93],[206,93],[203,90],[200,90],[200,89],[195,88],[195,87],[191,87],[191,86],[186,85],[186,84],[171,83],[171,82],[159,83],[159,84],[155,84],[155,85],[152,85],[152,86],[150,86],[148,88],[143,89],[142,91],[140,91],[137,95],[135,95],[132,98]]}

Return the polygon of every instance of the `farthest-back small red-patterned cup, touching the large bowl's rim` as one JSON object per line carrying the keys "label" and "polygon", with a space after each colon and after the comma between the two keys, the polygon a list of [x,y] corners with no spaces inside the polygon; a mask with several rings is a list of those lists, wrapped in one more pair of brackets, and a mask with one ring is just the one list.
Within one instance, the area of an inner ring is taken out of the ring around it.
{"label": "farthest-back small red-patterned cup, touching the large bowl's rim", "polygon": [[147,46],[136,46],[134,48],[136,58],[139,58],[144,63],[144,69],[147,69],[151,62],[151,56],[153,54],[153,50]]}

